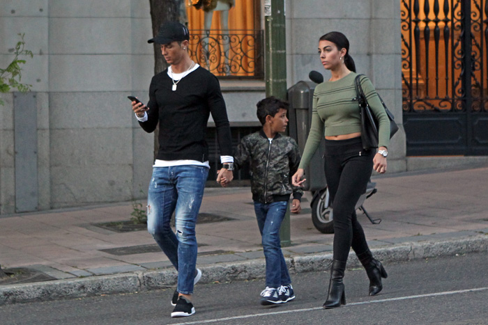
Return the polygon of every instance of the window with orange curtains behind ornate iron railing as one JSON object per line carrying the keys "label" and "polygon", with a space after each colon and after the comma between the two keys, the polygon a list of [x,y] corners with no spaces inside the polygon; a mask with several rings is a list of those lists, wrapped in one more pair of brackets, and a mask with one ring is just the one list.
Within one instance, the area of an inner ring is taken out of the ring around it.
{"label": "window with orange curtains behind ornate iron railing", "polygon": [[264,38],[259,26],[259,1],[190,2],[187,15],[192,59],[219,77],[263,79]]}

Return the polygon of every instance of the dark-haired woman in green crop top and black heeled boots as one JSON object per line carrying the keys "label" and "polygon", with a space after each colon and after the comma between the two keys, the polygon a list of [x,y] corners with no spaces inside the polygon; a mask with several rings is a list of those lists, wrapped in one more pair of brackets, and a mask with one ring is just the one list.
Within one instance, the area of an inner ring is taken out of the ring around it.
{"label": "dark-haired woman in green crop top and black heeled boots", "polygon": [[362,77],[361,86],[379,121],[379,150],[364,150],[354,86],[356,66],[349,55],[349,40],[337,31],[327,33],[319,40],[319,55],[323,68],[330,70],[332,77],[315,88],[310,134],[292,183],[295,186],[303,184],[304,168],[325,134],[324,170],[333,200],[335,235],[328,297],[323,307],[335,308],[346,304],[342,278],[351,247],[366,269],[369,295],[379,293],[383,289],[381,278],[387,277],[381,262],[375,260],[369,251],[365,233],[356,218],[355,207],[359,197],[366,191],[372,168],[378,173],[386,172],[390,122],[371,81]]}

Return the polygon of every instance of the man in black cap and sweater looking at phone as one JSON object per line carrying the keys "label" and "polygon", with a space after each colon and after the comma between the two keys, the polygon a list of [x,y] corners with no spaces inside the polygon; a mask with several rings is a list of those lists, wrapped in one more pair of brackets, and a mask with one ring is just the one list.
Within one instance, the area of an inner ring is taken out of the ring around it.
{"label": "man in black cap and sweater looking at phone", "polygon": [[[218,132],[222,169],[220,177],[232,180],[231,132],[218,79],[188,55],[188,29],[178,22],[160,27],[149,43],[161,46],[169,67],[156,74],[149,87],[147,106],[132,102],[139,125],[153,132],[159,123],[159,150],[148,190],[148,232],[178,270],[178,287],[171,317],[195,313],[193,286],[201,277],[196,269],[195,223],[210,168],[205,141],[212,114]],[[169,222],[175,213],[176,234]]]}

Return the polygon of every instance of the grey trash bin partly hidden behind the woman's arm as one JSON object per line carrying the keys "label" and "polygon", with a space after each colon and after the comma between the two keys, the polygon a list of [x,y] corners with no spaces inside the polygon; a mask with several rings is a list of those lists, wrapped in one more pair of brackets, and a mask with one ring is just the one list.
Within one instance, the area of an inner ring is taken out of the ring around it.
{"label": "grey trash bin partly hidden behind the woman's arm", "polygon": [[[312,99],[316,84],[311,81],[298,81],[288,89],[289,102],[289,136],[294,138],[303,154],[307,142],[310,124],[312,122]],[[305,191],[321,191],[326,188],[326,176],[323,173],[323,154],[325,152],[325,138],[322,137],[319,148],[315,152],[310,164],[305,169],[303,189]]]}

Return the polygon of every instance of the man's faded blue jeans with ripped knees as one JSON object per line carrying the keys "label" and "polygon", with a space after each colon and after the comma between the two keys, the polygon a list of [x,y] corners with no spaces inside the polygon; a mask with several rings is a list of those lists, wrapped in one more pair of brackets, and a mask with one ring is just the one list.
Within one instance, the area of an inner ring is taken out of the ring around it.
{"label": "man's faded blue jeans with ripped knees", "polygon": [[[148,190],[147,229],[178,270],[178,292],[193,293],[197,264],[195,224],[208,168],[154,167]],[[169,222],[175,212],[176,234]]]}

